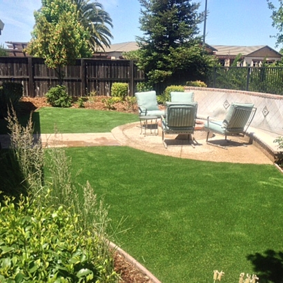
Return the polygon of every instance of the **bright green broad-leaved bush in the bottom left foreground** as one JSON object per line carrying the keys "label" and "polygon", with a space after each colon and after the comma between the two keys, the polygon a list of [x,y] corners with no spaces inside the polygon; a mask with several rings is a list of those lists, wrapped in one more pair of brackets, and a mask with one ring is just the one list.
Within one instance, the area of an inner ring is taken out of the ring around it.
{"label": "bright green broad-leaved bush in the bottom left foreground", "polygon": [[6,197],[0,211],[1,282],[117,279],[114,271],[108,273],[108,260],[93,248],[101,244],[99,236],[85,233],[68,207],[48,206],[48,195],[21,197],[16,205]]}

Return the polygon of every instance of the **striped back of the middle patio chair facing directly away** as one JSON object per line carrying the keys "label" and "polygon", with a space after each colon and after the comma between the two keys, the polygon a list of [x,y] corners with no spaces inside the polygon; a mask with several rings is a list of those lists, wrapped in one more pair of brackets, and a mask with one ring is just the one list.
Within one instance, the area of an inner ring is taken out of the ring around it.
{"label": "striped back of the middle patio chair facing directly away", "polygon": [[168,128],[193,128],[197,116],[197,102],[166,102],[166,126]]}

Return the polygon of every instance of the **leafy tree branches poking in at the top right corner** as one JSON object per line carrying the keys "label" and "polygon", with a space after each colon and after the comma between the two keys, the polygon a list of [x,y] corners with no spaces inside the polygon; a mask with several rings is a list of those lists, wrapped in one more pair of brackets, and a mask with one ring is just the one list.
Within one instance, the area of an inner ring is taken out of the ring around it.
{"label": "leafy tree branches poking in at the top right corner", "polygon": [[[283,43],[283,1],[280,0],[279,7],[276,8],[270,0],[266,0],[269,6],[269,9],[272,11],[271,19],[273,20],[272,26],[278,30],[275,37],[277,39],[275,47],[280,46]],[[282,52],[283,50],[281,50]]]}

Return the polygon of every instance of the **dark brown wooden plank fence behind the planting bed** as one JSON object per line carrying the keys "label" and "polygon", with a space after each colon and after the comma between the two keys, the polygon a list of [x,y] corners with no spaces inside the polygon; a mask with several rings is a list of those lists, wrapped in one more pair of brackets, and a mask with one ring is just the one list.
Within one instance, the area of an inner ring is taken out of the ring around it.
{"label": "dark brown wooden plank fence behind the planting bed", "polygon": [[[64,68],[64,85],[74,97],[110,95],[114,82],[125,82],[133,96],[138,82],[144,81],[133,60],[77,59],[74,66]],[[23,96],[43,97],[49,88],[59,84],[55,70],[47,68],[43,59],[35,57],[0,57],[0,83],[23,84]]]}

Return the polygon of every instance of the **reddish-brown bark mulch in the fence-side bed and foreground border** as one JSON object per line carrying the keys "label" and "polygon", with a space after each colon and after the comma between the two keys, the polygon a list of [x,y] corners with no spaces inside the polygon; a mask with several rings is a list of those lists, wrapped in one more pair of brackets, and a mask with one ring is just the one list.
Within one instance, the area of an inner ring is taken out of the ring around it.
{"label": "reddish-brown bark mulch in the fence-side bed and foreground border", "polygon": [[[115,110],[125,113],[137,113],[137,106],[131,106],[130,104],[117,103],[113,106],[113,109],[109,109],[104,99],[110,97],[94,97],[92,101],[84,102],[84,108],[96,109],[96,110]],[[30,111],[37,110],[41,107],[49,107],[45,97],[23,97],[21,99],[21,113],[28,114]],[[79,104],[74,103],[72,108],[79,108]],[[115,271],[121,276],[119,283],[152,283],[152,281],[144,274],[139,271],[133,264],[127,262],[127,260],[120,255],[115,253]]]}

